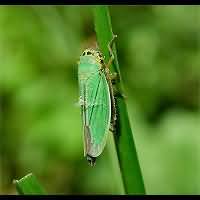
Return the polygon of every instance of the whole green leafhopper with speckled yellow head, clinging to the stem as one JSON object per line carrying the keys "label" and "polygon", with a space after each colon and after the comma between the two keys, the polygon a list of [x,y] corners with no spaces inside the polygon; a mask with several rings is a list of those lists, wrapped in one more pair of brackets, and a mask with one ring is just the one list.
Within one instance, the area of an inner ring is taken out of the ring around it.
{"label": "whole green leafhopper with speckled yellow head, clinging to the stem", "polygon": [[114,60],[111,45],[115,38],[108,44],[111,54],[108,64],[105,64],[99,51],[86,49],[80,56],[78,66],[84,156],[91,166],[104,150],[108,131],[114,131],[115,127],[115,98],[109,71]]}

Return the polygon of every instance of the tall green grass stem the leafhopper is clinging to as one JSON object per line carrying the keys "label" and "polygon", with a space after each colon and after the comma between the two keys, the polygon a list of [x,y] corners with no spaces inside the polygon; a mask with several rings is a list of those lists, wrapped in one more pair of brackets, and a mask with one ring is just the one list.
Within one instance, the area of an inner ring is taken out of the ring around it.
{"label": "tall green grass stem the leafhopper is clinging to", "polygon": [[[107,45],[113,37],[109,9],[108,6],[93,6],[93,12],[98,45],[105,56],[105,61],[108,62],[110,55]],[[120,81],[117,83],[116,87],[118,91],[121,91],[123,94],[115,44],[112,49],[115,60],[111,66],[111,72],[117,72],[119,74]],[[123,96],[117,97],[116,107],[117,130],[114,139],[124,190],[126,194],[145,194],[144,182]]]}

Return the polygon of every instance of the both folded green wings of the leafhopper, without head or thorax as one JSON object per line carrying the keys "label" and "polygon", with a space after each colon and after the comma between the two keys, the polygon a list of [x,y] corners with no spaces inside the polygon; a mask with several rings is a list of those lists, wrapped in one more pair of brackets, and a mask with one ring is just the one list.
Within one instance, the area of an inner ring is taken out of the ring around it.
{"label": "both folded green wings of the leafhopper, without head or thorax", "polygon": [[91,73],[81,79],[82,118],[85,155],[99,156],[106,144],[111,118],[111,100],[105,74]]}

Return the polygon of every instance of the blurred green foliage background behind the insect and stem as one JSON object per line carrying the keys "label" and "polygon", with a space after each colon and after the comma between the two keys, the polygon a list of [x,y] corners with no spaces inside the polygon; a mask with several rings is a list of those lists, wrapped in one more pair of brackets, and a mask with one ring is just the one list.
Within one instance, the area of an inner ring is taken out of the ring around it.
{"label": "blurred green foliage background behind the insect and stem", "polygon": [[[200,7],[110,6],[147,194],[200,194]],[[0,7],[0,194],[122,194],[115,149],[83,157],[77,61],[91,6]]]}

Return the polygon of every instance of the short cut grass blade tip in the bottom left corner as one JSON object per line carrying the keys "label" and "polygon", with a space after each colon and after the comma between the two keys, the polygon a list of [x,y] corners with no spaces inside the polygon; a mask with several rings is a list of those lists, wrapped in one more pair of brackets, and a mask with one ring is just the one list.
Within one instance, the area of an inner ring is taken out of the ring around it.
{"label": "short cut grass blade tip in the bottom left corner", "polygon": [[36,177],[30,173],[20,180],[14,180],[14,184],[16,185],[16,189],[19,194],[26,195],[26,194],[40,194],[44,195],[45,191],[38,183]]}

